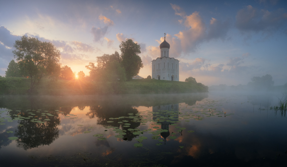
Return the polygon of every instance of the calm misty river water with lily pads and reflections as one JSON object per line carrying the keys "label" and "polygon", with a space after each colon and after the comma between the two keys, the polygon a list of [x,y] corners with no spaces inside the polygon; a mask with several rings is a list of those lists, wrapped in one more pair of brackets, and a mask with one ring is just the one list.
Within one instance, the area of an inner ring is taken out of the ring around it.
{"label": "calm misty river water with lily pads and reflections", "polygon": [[1,96],[0,163],[287,166],[287,118],[270,110],[278,97]]}

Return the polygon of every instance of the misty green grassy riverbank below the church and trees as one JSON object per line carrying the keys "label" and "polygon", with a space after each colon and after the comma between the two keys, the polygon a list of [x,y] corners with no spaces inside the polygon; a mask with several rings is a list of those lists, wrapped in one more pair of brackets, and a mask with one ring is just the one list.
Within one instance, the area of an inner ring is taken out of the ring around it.
{"label": "misty green grassy riverbank below the church and trees", "polygon": [[[26,95],[28,78],[0,78],[0,94]],[[134,79],[127,82],[93,82],[86,80],[42,79],[35,95],[160,94],[208,92],[201,83],[156,79]]]}

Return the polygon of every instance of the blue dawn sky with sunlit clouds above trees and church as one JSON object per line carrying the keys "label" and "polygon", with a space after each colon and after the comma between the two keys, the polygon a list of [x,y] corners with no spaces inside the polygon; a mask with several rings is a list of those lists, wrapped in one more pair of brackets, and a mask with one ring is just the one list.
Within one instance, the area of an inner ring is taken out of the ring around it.
{"label": "blue dawn sky with sunlit clouds above trees and church", "polygon": [[0,75],[5,76],[15,40],[22,36],[51,42],[62,66],[86,75],[85,66],[103,54],[121,54],[127,38],[141,46],[144,68],[170,44],[179,80],[192,76],[204,85],[246,85],[270,74],[287,82],[287,1],[13,1],[0,5]]}

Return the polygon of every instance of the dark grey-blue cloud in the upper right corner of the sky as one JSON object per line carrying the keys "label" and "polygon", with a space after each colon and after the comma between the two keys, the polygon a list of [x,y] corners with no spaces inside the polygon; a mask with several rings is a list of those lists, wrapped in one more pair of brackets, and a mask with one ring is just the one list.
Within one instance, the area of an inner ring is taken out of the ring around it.
{"label": "dark grey-blue cloud in the upper right corner of the sky", "polygon": [[284,13],[284,9],[270,12],[248,5],[237,12],[235,25],[242,32],[270,33],[280,29],[286,30],[286,20],[287,13]]}

